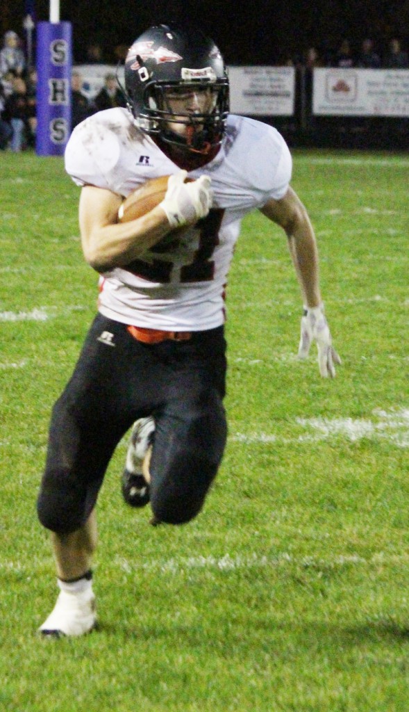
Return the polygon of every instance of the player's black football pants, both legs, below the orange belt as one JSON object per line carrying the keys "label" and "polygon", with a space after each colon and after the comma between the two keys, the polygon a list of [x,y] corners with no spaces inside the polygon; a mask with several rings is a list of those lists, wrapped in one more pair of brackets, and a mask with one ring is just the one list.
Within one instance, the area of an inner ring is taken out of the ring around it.
{"label": "player's black football pants, both legs, below the orange belt", "polygon": [[193,518],[225,448],[225,370],[223,327],[146,345],[126,325],[97,315],[53,407],[41,523],[60,534],[85,523],[117,444],[147,415],[156,423],[152,511],[172,524]]}

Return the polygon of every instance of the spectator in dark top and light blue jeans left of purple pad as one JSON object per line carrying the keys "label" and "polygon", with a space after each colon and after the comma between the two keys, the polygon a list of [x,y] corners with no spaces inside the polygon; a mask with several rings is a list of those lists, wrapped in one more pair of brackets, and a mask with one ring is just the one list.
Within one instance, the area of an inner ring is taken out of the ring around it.
{"label": "spectator in dark top and light blue jeans left of purple pad", "polygon": [[10,148],[14,152],[20,152],[33,142],[33,129],[36,126],[35,117],[34,121],[32,120],[26,82],[21,77],[14,78],[13,91],[6,99],[4,115],[13,130]]}

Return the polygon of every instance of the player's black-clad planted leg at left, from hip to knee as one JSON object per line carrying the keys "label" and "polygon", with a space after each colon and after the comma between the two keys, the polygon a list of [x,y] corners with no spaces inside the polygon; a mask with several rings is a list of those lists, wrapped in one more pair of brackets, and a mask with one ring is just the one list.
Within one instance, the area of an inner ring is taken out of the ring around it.
{"label": "player's black-clad planted leg at left, from hip to knee", "polygon": [[51,414],[38,516],[54,531],[83,525],[112,454],[134,417],[132,399],[124,399],[120,387],[118,360],[124,357],[119,342],[114,358],[112,347],[98,341],[102,325],[106,323],[100,318],[92,325]]}

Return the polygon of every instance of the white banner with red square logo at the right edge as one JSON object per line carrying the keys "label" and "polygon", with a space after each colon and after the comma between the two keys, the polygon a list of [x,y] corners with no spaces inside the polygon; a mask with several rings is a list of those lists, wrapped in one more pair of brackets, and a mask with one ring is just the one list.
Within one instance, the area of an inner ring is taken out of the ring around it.
{"label": "white banner with red square logo at the right edge", "polygon": [[314,69],[312,111],[326,116],[409,116],[409,70]]}

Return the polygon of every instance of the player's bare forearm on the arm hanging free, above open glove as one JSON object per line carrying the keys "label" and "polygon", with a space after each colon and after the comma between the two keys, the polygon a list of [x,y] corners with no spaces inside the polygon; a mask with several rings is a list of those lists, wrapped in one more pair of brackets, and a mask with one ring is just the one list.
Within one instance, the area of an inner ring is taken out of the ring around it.
{"label": "player's bare forearm on the arm hanging free, above open glove", "polygon": [[314,231],[307,216],[293,226],[291,234],[288,234],[288,244],[304,303],[316,307],[322,301],[319,259]]}

